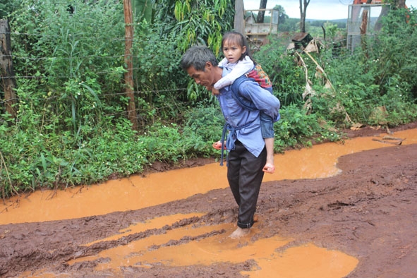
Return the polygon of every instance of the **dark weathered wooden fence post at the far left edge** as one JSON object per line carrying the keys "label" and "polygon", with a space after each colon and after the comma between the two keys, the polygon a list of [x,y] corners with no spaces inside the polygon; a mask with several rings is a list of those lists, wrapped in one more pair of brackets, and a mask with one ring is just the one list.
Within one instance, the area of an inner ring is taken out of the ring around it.
{"label": "dark weathered wooden fence post at the far left edge", "polygon": [[6,19],[0,19],[0,71],[1,85],[4,90],[4,106],[8,114],[16,118],[17,107],[15,104],[18,103],[14,91],[16,80],[11,59],[10,25]]}

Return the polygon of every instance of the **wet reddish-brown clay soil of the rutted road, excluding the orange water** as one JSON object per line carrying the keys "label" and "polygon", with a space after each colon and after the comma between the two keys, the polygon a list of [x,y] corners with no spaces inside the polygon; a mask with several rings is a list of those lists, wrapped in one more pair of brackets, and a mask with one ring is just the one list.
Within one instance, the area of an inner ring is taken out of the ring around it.
{"label": "wet reddish-brown clay soil of the rutted road, excluding the orange water", "polygon": [[[416,123],[411,123],[392,131],[416,127]],[[347,132],[351,138],[385,133],[372,128]],[[190,162],[203,163],[204,159]],[[291,243],[294,245],[313,242],[319,247],[341,250],[359,260],[349,278],[417,277],[417,145],[394,145],[346,155],[339,158],[338,167],[342,173],[327,179],[263,183],[258,201],[260,222],[255,224],[260,231],[257,238],[279,234],[297,238]],[[214,198],[216,202],[207,202]],[[82,246],[167,211],[210,213],[120,240]],[[28,270],[71,273],[72,277],[107,277],[111,273],[95,271],[94,262],[71,266],[67,262],[190,223],[235,223],[236,213],[226,188],[135,211],[0,225],[0,277],[16,277]],[[190,240],[194,239],[181,239]],[[243,277],[239,272],[250,270],[253,264],[248,260],[210,266],[152,265],[147,269],[125,267],[122,272],[123,277]]]}

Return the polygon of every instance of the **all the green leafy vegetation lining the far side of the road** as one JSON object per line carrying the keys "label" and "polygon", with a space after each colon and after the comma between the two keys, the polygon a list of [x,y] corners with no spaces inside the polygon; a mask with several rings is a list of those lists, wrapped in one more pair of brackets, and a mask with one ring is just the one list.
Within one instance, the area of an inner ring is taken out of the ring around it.
{"label": "all the green leafy vegetation lining the far side of the road", "polygon": [[[219,157],[211,144],[221,136],[222,113],[179,60],[195,43],[219,53],[221,35],[233,25],[232,1],[154,1],[152,20],[149,10],[135,17],[138,131],[126,119],[122,1],[72,0],[73,11],[64,0],[0,4],[12,29],[18,96],[13,118],[0,91],[1,198],[128,176],[155,161]],[[275,151],[340,140],[353,123],[416,121],[416,18],[413,10],[408,17],[391,11],[366,47],[337,56],[334,41],[346,35],[334,23],[326,23],[320,53],[288,53],[298,23],[286,18],[287,37],[271,37],[254,54],[282,101]]]}

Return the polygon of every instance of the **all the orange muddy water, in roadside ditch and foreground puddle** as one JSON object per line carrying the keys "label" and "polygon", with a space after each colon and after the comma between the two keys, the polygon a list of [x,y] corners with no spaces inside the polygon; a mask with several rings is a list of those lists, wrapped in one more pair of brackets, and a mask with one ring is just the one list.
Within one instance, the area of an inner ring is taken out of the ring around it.
{"label": "all the orange muddy water, in roadside ditch and foreground puddle", "polygon": [[[398,131],[396,138],[405,139],[402,144],[416,144],[417,130]],[[372,150],[380,147],[392,147],[389,140],[385,143],[375,140],[377,137],[354,138],[344,143],[325,143],[308,149],[291,150],[284,155],[275,155],[275,174],[265,174],[264,181],[283,179],[321,179],[339,173],[337,159],[353,152]],[[381,138],[377,138],[382,140]],[[107,214],[116,211],[138,210],[181,200],[198,193],[217,188],[227,188],[226,167],[218,163],[202,167],[179,169],[148,176],[131,176],[128,179],[113,180],[94,186],[67,188],[65,191],[36,191],[20,198],[6,200],[0,205],[0,224],[45,222],[58,219],[73,219],[92,215]],[[202,215],[170,214],[147,222],[135,223],[117,234],[99,241],[111,241],[140,231],[157,229],[181,219]],[[184,236],[207,234],[212,229],[224,229],[226,233],[189,241],[179,246],[170,246],[172,240]],[[139,265],[150,267],[159,262],[167,266],[210,265],[217,262],[244,262],[255,260],[256,269],[241,272],[248,277],[345,277],[355,269],[358,259],[338,250],[319,248],[313,243],[291,246],[294,238],[260,238],[249,241],[246,238],[231,240],[228,235],[236,227],[233,224],[217,226],[183,226],[138,239],[126,246],[117,246],[101,253],[78,258],[68,262],[92,261],[99,258],[96,270],[108,270],[117,276],[120,267]],[[252,234],[256,234],[256,227]],[[97,242],[97,241],[95,241]],[[91,245],[95,242],[88,243]],[[152,250],[153,245],[164,247]],[[23,277],[55,277],[53,274],[39,272],[23,274]],[[61,275],[60,277],[67,277]]]}

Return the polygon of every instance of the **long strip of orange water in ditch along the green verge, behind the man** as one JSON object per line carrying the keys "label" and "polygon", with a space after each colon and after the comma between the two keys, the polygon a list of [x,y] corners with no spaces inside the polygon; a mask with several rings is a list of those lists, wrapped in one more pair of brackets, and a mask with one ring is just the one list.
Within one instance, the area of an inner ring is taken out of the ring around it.
{"label": "long strip of orange water in ditch along the green verge, behind the man", "polygon": [[[417,129],[396,132],[395,137],[406,138],[403,145],[416,144]],[[354,138],[343,144],[325,143],[275,155],[276,171],[274,174],[265,174],[263,181],[334,176],[339,173],[336,167],[338,157],[393,146],[373,138]],[[6,201],[6,205],[1,203],[0,224],[44,222],[138,210],[218,188],[228,188],[226,166],[212,163],[146,177],[131,176],[99,185],[66,188],[65,191],[36,191],[26,197],[22,195],[21,198],[11,198]]]}

